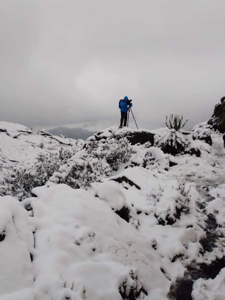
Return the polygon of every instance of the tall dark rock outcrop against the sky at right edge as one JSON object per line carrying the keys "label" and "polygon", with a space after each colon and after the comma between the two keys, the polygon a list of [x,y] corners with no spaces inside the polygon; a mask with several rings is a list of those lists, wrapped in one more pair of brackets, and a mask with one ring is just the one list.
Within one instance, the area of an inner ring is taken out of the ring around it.
{"label": "tall dark rock outcrop against the sky at right edge", "polygon": [[216,131],[225,132],[225,97],[221,98],[220,102],[215,105],[214,112],[208,120],[208,124]]}

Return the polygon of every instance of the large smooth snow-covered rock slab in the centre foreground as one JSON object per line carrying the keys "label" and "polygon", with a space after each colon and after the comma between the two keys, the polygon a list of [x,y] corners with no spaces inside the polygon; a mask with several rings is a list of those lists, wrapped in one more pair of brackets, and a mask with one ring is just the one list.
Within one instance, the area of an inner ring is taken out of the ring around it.
{"label": "large smooth snow-covered rock slab in the centre foreground", "polygon": [[[108,299],[121,299],[119,284],[126,278],[134,283],[129,275],[134,263],[140,278],[152,280],[147,266],[157,269],[154,250],[98,197],[60,184],[46,189],[32,206],[32,220],[38,228],[33,261],[35,282],[47,282],[47,293],[56,287],[58,291],[62,289],[61,274],[67,286],[74,280],[74,290],[85,286],[87,298],[105,299],[110,295]],[[155,273],[166,283],[160,270]]]}

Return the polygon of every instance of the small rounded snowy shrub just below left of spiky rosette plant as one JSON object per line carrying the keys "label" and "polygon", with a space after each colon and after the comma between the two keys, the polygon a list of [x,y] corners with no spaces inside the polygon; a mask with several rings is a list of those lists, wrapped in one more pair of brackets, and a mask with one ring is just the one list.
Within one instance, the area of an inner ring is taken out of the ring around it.
{"label": "small rounded snowy shrub just below left of spiky rosette plant", "polygon": [[164,154],[161,149],[151,147],[146,151],[145,158],[143,159],[143,167],[146,169],[168,169],[169,159],[168,154]]}

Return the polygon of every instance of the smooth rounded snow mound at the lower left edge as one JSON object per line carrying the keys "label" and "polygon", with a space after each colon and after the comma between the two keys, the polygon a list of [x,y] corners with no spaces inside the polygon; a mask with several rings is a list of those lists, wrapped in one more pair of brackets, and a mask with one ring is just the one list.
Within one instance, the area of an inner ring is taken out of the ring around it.
{"label": "smooth rounded snow mound at the lower left edge", "polygon": [[0,196],[0,295],[19,291],[33,284],[30,254],[34,247],[29,215],[22,204],[10,196]]}

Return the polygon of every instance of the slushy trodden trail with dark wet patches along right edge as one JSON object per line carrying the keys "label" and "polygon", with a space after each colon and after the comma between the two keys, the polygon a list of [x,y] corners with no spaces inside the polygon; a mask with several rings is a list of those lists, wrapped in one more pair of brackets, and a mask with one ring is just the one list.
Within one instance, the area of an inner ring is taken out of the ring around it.
{"label": "slushy trodden trail with dark wet patches along right edge", "polygon": [[[202,246],[202,258],[199,263],[193,262],[191,265],[187,265],[187,271],[184,274],[184,278],[176,280],[171,286],[168,298],[170,300],[203,300],[207,298],[208,293],[205,293],[206,281],[214,280],[219,277],[220,271],[225,268],[225,231],[220,228],[220,224],[217,224],[215,214],[209,213],[207,210],[208,205],[214,201],[215,197],[210,193],[211,190],[216,190],[223,187],[225,182],[225,149],[223,146],[223,140],[215,138],[212,144],[212,154],[216,159],[212,159],[210,156],[207,159],[207,164],[213,165],[214,169],[213,178],[210,174],[205,173],[205,176],[185,176],[186,180],[190,183],[194,183],[196,190],[198,191],[201,199],[197,199],[196,205],[200,209],[203,215],[207,217],[205,220],[205,238],[202,238],[200,244]],[[218,253],[220,252],[220,255]],[[215,259],[216,257],[216,259]],[[212,262],[210,263],[210,261]],[[222,272],[222,271],[221,271]],[[200,279],[199,279],[200,278]],[[202,279],[203,278],[203,279]],[[199,282],[203,280],[203,288],[196,290],[196,286],[199,288]],[[216,285],[216,283],[214,283]],[[205,297],[205,298],[204,298]],[[213,295],[211,295],[213,297]],[[215,296],[213,299],[220,299]],[[222,298],[221,298],[222,299]]]}

